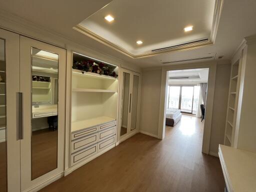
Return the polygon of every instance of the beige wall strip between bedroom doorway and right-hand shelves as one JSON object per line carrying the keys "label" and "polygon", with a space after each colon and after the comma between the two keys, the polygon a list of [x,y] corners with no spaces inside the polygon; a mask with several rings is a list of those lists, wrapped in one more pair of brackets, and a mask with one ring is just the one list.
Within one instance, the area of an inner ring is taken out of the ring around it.
{"label": "beige wall strip between bedroom doorway and right-hand shelves", "polygon": [[214,153],[218,152],[218,144],[224,142],[230,70],[230,64],[218,64],[216,68],[209,147]]}

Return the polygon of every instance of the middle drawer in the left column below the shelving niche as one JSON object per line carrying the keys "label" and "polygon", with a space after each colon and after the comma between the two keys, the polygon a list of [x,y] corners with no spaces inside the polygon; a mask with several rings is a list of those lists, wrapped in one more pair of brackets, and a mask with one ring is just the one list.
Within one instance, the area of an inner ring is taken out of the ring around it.
{"label": "middle drawer in the left column below the shelving niche", "polygon": [[92,145],[98,141],[97,133],[90,134],[88,136],[81,137],[79,139],[71,141],[71,153],[81,150],[89,145]]}

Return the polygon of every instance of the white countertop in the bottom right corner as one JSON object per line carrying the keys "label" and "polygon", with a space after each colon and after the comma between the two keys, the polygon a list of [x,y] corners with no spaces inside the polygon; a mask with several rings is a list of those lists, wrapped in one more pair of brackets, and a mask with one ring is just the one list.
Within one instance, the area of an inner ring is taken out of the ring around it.
{"label": "white countertop in the bottom right corner", "polygon": [[256,153],[220,144],[218,154],[228,192],[255,192]]}

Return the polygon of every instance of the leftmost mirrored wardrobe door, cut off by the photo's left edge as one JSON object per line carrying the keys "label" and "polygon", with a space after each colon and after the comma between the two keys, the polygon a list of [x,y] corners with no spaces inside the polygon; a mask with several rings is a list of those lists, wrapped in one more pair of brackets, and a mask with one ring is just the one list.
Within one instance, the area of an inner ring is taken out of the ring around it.
{"label": "leftmost mirrored wardrobe door, cut off by the photo's left edge", "polygon": [[19,35],[0,29],[0,191],[20,191]]}

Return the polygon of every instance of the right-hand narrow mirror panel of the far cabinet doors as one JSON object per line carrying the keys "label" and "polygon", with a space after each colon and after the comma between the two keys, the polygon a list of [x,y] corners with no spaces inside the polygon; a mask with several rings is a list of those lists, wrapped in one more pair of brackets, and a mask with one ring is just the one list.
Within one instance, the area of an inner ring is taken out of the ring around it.
{"label": "right-hand narrow mirror panel of the far cabinet doors", "polygon": [[133,75],[130,130],[135,129],[137,124],[138,80],[139,77]]}

